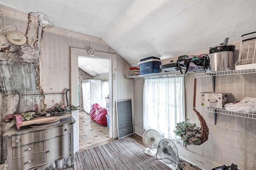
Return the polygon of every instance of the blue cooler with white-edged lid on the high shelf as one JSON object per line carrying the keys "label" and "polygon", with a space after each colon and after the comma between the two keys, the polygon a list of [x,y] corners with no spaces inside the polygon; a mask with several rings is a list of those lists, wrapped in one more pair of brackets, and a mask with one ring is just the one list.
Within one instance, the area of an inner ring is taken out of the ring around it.
{"label": "blue cooler with white-edged lid on the high shelf", "polygon": [[161,61],[159,58],[148,59],[148,60],[143,60],[138,64],[140,64],[140,74],[158,73],[159,66],[161,65]]}

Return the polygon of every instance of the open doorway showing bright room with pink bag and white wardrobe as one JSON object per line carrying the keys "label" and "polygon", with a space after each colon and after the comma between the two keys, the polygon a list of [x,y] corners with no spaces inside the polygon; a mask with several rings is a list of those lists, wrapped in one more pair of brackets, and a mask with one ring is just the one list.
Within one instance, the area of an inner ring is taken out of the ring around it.
{"label": "open doorway showing bright room with pink bag and white wardrobe", "polygon": [[[92,121],[90,117],[93,104],[109,111],[106,98],[111,92],[110,64],[110,59],[78,55],[79,150],[88,149],[111,139],[109,113],[101,115],[100,123]],[[104,121],[108,122],[107,126]]]}

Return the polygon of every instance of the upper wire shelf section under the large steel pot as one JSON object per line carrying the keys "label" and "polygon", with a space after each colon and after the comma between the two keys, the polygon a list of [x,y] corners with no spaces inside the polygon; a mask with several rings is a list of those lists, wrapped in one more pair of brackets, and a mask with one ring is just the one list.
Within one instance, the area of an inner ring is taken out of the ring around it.
{"label": "upper wire shelf section under the large steel pot", "polygon": [[244,70],[228,70],[228,71],[196,73],[195,77],[224,76],[224,75],[250,74],[250,73],[256,73],[256,68],[244,69]]}

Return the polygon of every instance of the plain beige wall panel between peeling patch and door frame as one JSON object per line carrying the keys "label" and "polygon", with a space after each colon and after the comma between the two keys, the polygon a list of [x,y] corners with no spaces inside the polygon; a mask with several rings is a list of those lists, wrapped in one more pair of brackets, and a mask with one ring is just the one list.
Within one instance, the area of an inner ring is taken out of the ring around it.
{"label": "plain beige wall panel between peeling patch and door frame", "polygon": [[[100,39],[74,31],[48,27],[43,29],[42,36],[40,69],[41,88],[45,93],[58,93],[70,88],[70,47],[114,53]],[[48,95],[45,104],[50,105],[52,100],[65,101],[65,96]]]}

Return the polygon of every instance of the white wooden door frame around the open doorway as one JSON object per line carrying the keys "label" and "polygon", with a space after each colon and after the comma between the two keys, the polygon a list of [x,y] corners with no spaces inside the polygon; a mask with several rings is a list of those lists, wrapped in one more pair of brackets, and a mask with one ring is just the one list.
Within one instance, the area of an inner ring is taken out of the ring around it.
{"label": "white wooden door frame around the open doorway", "polygon": [[[110,73],[109,73],[109,86],[110,86],[110,126],[109,126],[109,137],[114,139],[116,138],[116,116],[115,111],[113,110],[113,102],[116,101],[116,95],[113,95],[113,89],[116,88],[116,79],[112,78],[113,75],[113,68],[116,68],[117,61],[116,61],[116,55],[111,53],[103,53],[99,51],[95,51],[95,57],[96,58],[104,58],[110,60]],[[91,57],[88,54],[88,50],[86,49],[78,49],[78,48],[71,48],[71,71],[70,71],[70,92],[71,92],[71,104],[74,104],[75,106],[78,106],[78,56],[86,56]],[[79,150],[79,119],[78,119],[78,111],[74,111],[72,113],[72,117],[76,120],[76,123],[74,124],[74,152],[77,152]]]}

